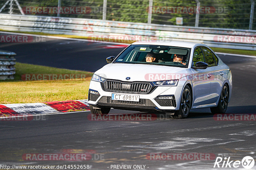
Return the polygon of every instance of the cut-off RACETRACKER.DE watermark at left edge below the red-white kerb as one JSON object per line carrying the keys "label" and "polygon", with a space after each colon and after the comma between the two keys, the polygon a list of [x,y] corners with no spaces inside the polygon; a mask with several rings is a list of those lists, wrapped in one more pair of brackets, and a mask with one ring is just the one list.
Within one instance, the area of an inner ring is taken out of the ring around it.
{"label": "cut-off RACETRACKER.DE watermark at left edge below the red-white kerb", "polygon": [[47,115],[26,115],[26,116],[8,116],[0,117],[0,121],[38,121],[38,120],[48,120]]}

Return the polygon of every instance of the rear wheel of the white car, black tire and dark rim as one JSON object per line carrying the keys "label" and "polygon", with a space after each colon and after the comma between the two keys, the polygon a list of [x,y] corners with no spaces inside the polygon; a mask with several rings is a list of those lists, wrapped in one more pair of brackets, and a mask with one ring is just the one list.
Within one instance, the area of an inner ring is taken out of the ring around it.
{"label": "rear wheel of the white car, black tire and dark rim", "polygon": [[225,113],[228,108],[229,91],[228,86],[225,84],[220,93],[220,100],[216,107],[211,107],[212,114]]}

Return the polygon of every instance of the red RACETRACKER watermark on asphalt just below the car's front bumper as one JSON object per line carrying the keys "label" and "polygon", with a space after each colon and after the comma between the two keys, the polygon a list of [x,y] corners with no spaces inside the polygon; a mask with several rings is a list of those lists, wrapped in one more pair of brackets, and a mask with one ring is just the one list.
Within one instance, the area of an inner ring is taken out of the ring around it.
{"label": "red RACETRACKER watermark on asphalt just below the car's front bumper", "polygon": [[124,115],[94,116],[92,114],[89,114],[87,116],[87,119],[90,121],[154,121],[157,119],[157,115],[156,114],[124,114]]}

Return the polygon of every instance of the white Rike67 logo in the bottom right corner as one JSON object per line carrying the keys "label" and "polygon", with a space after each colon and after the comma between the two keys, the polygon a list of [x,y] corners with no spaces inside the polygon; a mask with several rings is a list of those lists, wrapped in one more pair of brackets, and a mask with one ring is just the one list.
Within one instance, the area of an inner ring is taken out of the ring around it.
{"label": "white Rike67 logo in the bottom right corner", "polygon": [[214,168],[238,168],[241,167],[241,165],[245,169],[251,169],[254,166],[254,159],[251,156],[245,156],[242,161],[240,160],[231,160],[230,157],[225,157],[224,159],[221,157],[217,157],[214,163]]}

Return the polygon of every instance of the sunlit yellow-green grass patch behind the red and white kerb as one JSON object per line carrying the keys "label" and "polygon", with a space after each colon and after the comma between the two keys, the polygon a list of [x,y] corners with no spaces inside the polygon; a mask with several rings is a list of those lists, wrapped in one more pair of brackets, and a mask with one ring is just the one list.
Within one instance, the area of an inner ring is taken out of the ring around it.
{"label": "sunlit yellow-green grass patch behind the red and white kerb", "polygon": [[[0,81],[0,104],[87,99],[93,73],[17,62],[14,80]],[[85,74],[85,80],[22,81],[22,74]]]}

